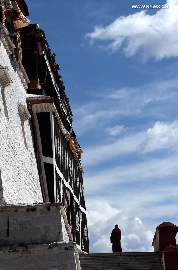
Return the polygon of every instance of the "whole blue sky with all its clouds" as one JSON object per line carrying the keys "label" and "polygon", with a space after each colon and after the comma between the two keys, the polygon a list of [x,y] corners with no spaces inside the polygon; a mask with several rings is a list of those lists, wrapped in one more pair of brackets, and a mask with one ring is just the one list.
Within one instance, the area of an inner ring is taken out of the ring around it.
{"label": "whole blue sky with all its clouds", "polygon": [[90,252],[151,251],[177,225],[177,1],[26,1],[70,97],[84,153]]}

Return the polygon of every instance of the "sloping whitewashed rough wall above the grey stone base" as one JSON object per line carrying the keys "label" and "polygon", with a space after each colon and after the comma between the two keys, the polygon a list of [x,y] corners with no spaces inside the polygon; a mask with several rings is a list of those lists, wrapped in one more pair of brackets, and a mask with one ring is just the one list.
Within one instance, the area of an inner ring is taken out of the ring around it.
{"label": "sloping whitewashed rough wall above the grey stone base", "polygon": [[8,66],[13,83],[0,91],[0,202],[42,202],[29,120],[21,124],[18,105],[26,105],[26,90],[0,41],[0,65]]}

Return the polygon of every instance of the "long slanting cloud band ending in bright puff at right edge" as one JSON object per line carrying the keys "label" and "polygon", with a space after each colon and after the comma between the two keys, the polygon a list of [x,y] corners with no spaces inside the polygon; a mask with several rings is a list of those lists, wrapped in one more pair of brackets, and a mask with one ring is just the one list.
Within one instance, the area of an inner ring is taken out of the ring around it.
{"label": "long slanting cloud band ending in bright puff at right edge", "polygon": [[127,137],[116,139],[111,144],[102,144],[84,149],[82,164],[84,166],[96,165],[105,160],[114,159],[115,156],[138,151],[146,153],[164,148],[171,150],[176,144],[177,121],[170,124],[158,121],[152,128],[148,129],[147,133],[139,132],[130,134]]}

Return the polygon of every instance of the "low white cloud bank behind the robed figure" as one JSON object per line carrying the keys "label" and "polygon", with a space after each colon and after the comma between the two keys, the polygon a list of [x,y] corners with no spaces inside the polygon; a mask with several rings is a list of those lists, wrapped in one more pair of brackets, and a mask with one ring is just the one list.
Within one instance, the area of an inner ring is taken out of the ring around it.
{"label": "low white cloud bank behind the robed figure", "polygon": [[[112,252],[110,234],[115,224],[121,229],[123,252],[153,251],[152,240],[156,226],[164,221],[175,223],[177,205],[164,202],[165,194],[177,201],[176,187],[155,184],[152,190],[128,189],[110,196],[87,197],[87,220],[90,252]],[[114,205],[114,206],[113,206]],[[121,206],[121,208],[119,208]],[[91,213],[95,213],[94,215]],[[166,219],[165,219],[166,217]],[[92,222],[91,222],[92,220]]]}

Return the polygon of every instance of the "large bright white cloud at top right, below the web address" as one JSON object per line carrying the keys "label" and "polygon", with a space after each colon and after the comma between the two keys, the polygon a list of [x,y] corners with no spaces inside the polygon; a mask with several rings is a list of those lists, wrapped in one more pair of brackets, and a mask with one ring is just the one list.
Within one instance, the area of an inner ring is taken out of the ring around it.
{"label": "large bright white cloud at top right, below the web address", "polygon": [[[160,9],[149,15],[146,10],[121,16],[108,26],[95,26],[87,33],[91,43],[94,40],[108,41],[99,47],[116,51],[123,45],[126,56],[138,50],[144,59],[177,56],[177,1],[168,0],[168,9]],[[133,10],[134,11],[134,10]]]}

